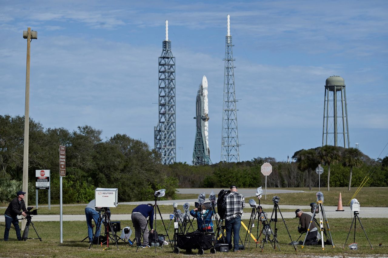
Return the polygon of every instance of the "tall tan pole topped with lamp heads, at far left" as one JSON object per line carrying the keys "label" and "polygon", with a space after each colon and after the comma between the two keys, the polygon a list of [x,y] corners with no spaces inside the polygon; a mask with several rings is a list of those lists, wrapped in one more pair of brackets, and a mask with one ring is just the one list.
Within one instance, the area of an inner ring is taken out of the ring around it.
{"label": "tall tan pole topped with lamp heads, at far left", "polygon": [[[26,106],[24,109],[24,152],[23,152],[23,192],[24,203],[28,206],[28,130],[29,130],[29,59],[30,59],[30,46],[31,40],[38,39],[38,32],[31,31],[28,27],[27,31],[23,31],[23,38],[27,39],[27,64],[26,64]],[[22,229],[26,224],[25,220],[22,220]]]}

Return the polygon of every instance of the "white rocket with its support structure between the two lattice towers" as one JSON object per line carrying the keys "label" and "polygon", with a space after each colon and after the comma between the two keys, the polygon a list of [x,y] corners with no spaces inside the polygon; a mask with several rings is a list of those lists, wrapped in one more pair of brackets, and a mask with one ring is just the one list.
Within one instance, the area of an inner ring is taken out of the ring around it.
{"label": "white rocket with its support structure between the two lattice towers", "polygon": [[208,79],[202,77],[196,99],[196,135],[194,139],[193,165],[209,165],[209,105],[208,105]]}

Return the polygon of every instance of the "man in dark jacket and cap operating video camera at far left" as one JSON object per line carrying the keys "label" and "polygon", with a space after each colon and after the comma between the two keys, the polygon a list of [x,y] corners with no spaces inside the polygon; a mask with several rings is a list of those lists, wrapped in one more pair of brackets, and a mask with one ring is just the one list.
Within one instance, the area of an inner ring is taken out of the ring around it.
{"label": "man in dark jacket and cap operating video camera at far left", "polygon": [[[16,196],[12,201],[9,203],[7,210],[5,210],[4,217],[5,217],[5,230],[4,230],[4,241],[8,241],[8,235],[9,235],[9,229],[11,228],[11,223],[14,224],[15,230],[16,230],[16,237],[17,240],[22,240],[22,237],[20,235],[20,228],[19,228],[19,220],[17,220],[17,215],[23,215],[24,217],[27,216],[26,212],[26,205],[24,204],[24,192],[19,191],[16,193]],[[23,210],[21,212],[20,210]]]}

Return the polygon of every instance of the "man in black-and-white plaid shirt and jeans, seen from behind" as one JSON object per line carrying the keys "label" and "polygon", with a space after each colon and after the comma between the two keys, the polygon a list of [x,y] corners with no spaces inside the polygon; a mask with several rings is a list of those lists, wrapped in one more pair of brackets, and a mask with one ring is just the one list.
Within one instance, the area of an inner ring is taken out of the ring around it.
{"label": "man in black-and-white plaid shirt and jeans, seen from behind", "polygon": [[222,208],[225,209],[225,230],[226,241],[229,244],[229,250],[232,249],[232,230],[233,230],[233,251],[239,252],[239,233],[241,227],[241,216],[245,207],[245,198],[237,193],[235,185],[230,186],[230,194],[225,196],[222,202]]}

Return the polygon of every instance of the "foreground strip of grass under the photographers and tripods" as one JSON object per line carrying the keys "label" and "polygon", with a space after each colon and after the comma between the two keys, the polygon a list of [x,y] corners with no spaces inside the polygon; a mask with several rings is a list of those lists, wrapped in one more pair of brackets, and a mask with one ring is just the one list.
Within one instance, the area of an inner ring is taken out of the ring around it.
{"label": "foreground strip of grass under the photographers and tripods", "polygon": [[[352,220],[350,218],[336,218],[329,219],[329,226],[332,232],[335,248],[332,246],[325,246],[325,249],[322,250],[320,246],[297,246],[297,252],[293,249],[288,243],[291,242],[286,228],[284,227],[283,222],[278,222],[278,241],[280,244],[280,250],[274,250],[272,246],[268,243],[265,244],[263,253],[260,248],[255,248],[253,244],[253,239],[250,239],[249,248],[245,249],[241,253],[216,253],[211,255],[211,257],[300,257],[307,255],[316,255],[316,256],[381,256],[383,254],[388,254],[388,224],[385,219],[378,218],[362,218],[361,220],[369,240],[373,246],[371,250],[367,239],[360,228],[360,225],[357,224],[356,229],[356,243],[359,244],[359,249],[351,251],[347,246],[348,244],[353,243],[353,230],[350,234],[348,242],[346,244],[345,250],[343,250],[343,245],[345,243],[346,236],[350,229],[350,224]],[[165,222],[166,226],[168,221]],[[248,220],[244,220],[244,223],[248,225]],[[298,219],[286,219],[286,224],[290,230],[290,234],[293,240],[298,239],[300,234],[298,234],[296,228],[298,226]],[[0,257],[25,257],[25,256],[45,256],[45,257],[183,257],[185,251],[181,250],[180,254],[174,254],[171,249],[171,245],[164,246],[163,249],[157,248],[157,253],[155,254],[154,248],[139,249],[136,253],[135,247],[130,247],[123,242],[119,242],[119,249],[117,250],[113,244],[110,244],[109,250],[103,250],[106,246],[93,246],[92,249],[88,250],[89,244],[86,242],[81,243],[80,241],[87,236],[87,225],[85,222],[63,222],[63,243],[59,243],[60,239],[60,227],[59,222],[35,222],[34,223],[36,230],[40,237],[42,237],[42,242],[37,239],[28,239],[27,241],[16,241],[16,234],[14,227],[11,227],[10,230],[10,239],[8,242],[1,242],[1,252]],[[129,225],[132,227],[132,222],[130,221],[121,221],[121,227]],[[0,222],[0,232],[4,230],[5,223]],[[257,224],[255,225],[257,227]],[[272,227],[274,224],[272,222]],[[253,230],[253,234],[256,235],[256,228]],[[165,234],[165,229],[160,220],[158,220],[157,230],[159,234]],[[170,239],[173,238],[173,230],[169,230]],[[244,241],[246,236],[246,231],[241,227],[240,237]],[[301,237],[303,240],[304,234]],[[36,233],[32,227],[29,230],[29,237],[36,237]],[[133,239],[134,233],[131,236]],[[379,247],[378,244],[382,243],[382,246]],[[194,255],[197,255],[197,250],[193,250]],[[205,251],[205,255],[209,256],[210,251]]]}

